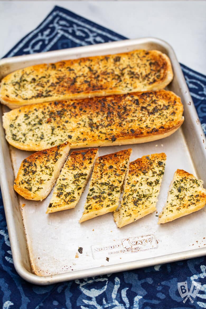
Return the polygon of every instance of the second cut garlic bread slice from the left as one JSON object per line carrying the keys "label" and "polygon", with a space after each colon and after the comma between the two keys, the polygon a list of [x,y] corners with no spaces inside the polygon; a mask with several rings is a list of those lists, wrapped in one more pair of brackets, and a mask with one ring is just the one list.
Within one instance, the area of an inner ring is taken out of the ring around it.
{"label": "second cut garlic bread slice from the left", "polygon": [[97,157],[97,148],[73,151],[69,155],[57,179],[46,214],[77,205]]}

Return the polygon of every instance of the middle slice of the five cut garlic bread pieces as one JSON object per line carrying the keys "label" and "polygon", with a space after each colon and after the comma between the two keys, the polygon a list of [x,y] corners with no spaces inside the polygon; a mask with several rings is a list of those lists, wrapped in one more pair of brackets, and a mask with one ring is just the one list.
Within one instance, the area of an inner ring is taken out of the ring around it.
{"label": "middle slice of the five cut garlic bread pieces", "polygon": [[126,149],[97,159],[79,222],[116,210],[131,153]]}

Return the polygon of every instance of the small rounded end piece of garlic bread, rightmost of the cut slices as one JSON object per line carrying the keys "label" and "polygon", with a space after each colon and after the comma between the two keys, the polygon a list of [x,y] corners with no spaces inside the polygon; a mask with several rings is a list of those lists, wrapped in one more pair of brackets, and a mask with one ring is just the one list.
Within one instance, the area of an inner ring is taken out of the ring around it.
{"label": "small rounded end piece of garlic bread, rightmost of the cut slices", "polygon": [[203,208],[205,204],[206,190],[203,188],[203,181],[178,169],[174,173],[166,205],[159,214],[158,224],[191,214]]}

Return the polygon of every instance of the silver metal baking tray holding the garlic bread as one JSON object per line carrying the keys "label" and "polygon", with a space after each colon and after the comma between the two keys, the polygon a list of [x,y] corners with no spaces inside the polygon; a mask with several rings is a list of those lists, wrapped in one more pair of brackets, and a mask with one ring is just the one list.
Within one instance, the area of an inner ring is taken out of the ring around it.
{"label": "silver metal baking tray holding the garlic bread", "polygon": [[[143,38],[2,59],[0,79],[14,70],[34,64],[134,49],[157,49],[170,57],[174,79],[168,90],[181,97],[185,121],[180,129],[165,139],[131,146],[100,147],[99,155],[132,147],[132,161],[142,155],[165,152],[166,169],[157,203],[159,213],[177,168],[193,173],[206,184],[205,136],[183,73],[169,44],[155,38]],[[116,227],[112,213],[80,224],[78,220],[86,199],[87,185],[73,210],[46,215],[52,192],[44,201],[36,202],[24,200],[13,190],[14,176],[20,163],[31,153],[7,144],[2,117],[0,121],[2,197],[14,266],[25,280],[35,284],[51,284],[206,254],[205,208],[163,225],[157,224],[155,213],[121,229]],[[22,207],[22,204],[26,206]],[[83,248],[82,254],[78,252],[79,247]]]}

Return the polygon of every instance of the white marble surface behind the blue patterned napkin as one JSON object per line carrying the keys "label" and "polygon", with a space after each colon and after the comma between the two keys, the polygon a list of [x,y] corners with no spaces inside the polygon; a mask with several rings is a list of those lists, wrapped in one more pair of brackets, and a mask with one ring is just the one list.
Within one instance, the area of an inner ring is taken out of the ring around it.
{"label": "white marble surface behind the blue patterned napkin", "polygon": [[205,1],[1,1],[0,57],[56,4],[128,38],[166,40],[180,62],[206,74]]}

